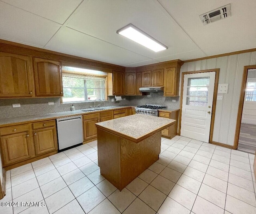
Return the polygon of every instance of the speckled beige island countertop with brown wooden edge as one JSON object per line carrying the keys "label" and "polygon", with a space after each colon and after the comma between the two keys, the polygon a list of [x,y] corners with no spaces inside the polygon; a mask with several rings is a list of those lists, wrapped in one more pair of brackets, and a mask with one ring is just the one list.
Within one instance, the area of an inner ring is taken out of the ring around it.
{"label": "speckled beige island countertop with brown wooden edge", "polygon": [[96,123],[96,127],[131,141],[139,141],[160,132],[174,124],[176,120],[154,117],[146,114],[134,114],[114,120]]}

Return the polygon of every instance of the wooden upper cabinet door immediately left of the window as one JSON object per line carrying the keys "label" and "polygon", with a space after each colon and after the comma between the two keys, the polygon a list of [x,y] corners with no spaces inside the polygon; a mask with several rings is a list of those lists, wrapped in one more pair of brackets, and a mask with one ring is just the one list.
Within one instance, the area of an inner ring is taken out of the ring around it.
{"label": "wooden upper cabinet door immediately left of the window", "polygon": [[36,96],[62,96],[60,63],[34,58]]}

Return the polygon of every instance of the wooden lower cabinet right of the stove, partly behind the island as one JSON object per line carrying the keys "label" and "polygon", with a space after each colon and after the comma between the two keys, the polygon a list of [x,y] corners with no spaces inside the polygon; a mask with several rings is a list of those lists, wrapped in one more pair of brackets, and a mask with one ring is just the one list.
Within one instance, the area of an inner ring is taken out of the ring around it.
{"label": "wooden lower cabinet right of the stove, partly behind the island", "polygon": [[159,111],[158,116],[163,117],[163,118],[170,118],[173,120],[176,120],[176,123],[173,124],[172,126],[162,130],[162,137],[166,137],[168,139],[172,139],[177,135],[177,130],[178,130],[178,115],[179,115],[179,110],[176,111]]}

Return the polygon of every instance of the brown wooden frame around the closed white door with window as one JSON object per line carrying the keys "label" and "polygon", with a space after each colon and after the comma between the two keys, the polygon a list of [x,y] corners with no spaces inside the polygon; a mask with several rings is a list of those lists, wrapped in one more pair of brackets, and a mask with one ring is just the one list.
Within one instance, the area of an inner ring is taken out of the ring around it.
{"label": "brown wooden frame around the closed white door with window", "polygon": [[[181,129],[181,116],[182,116],[182,100],[183,100],[184,75],[186,75],[186,74],[196,74],[196,73],[206,73],[206,72],[215,72],[214,92],[213,92],[213,100],[212,100],[212,117],[211,117],[210,136],[209,136],[209,143],[213,143],[213,141],[212,141],[212,135],[213,135],[213,127],[214,127],[214,119],[215,119],[215,109],[216,109],[216,100],[217,100],[217,92],[218,92],[218,82],[219,82],[219,73],[220,73],[220,69],[209,69],[209,70],[202,70],[202,71],[188,71],[188,72],[182,72],[181,90],[180,90],[180,116],[179,116],[178,135],[180,135],[180,129]],[[215,142],[214,142],[214,143],[215,143]]]}

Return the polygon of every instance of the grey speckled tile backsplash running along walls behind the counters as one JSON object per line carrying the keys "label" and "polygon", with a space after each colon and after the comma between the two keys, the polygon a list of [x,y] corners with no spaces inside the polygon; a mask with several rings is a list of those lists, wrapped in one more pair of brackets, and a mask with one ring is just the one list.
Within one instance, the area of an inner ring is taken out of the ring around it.
{"label": "grey speckled tile backsplash running along walls behind the counters", "polygon": [[[148,96],[122,96],[126,100],[111,102],[109,96],[108,101],[102,101],[101,106],[118,106],[118,105],[143,105],[143,104],[158,104],[171,108],[179,108],[179,97],[165,97],[163,92],[151,92]],[[176,102],[172,102],[176,100]],[[48,105],[48,102],[54,102],[54,105]],[[13,108],[12,104],[20,104],[20,107]],[[73,103],[75,109],[90,108],[93,102],[80,102]],[[54,112],[70,111],[72,104],[61,104],[60,98],[22,98],[22,99],[0,99],[0,119],[1,118],[14,118],[20,116],[31,116],[38,114],[47,114]]]}

